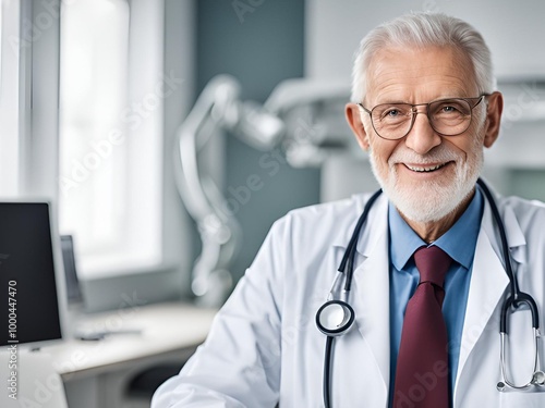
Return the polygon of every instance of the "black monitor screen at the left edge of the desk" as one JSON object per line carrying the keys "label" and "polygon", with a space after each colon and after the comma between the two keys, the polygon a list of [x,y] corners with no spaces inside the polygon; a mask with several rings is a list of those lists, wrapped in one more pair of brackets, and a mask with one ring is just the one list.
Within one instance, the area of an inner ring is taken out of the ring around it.
{"label": "black monitor screen at the left edge of the desk", "polygon": [[0,202],[0,346],[62,338],[47,202]]}

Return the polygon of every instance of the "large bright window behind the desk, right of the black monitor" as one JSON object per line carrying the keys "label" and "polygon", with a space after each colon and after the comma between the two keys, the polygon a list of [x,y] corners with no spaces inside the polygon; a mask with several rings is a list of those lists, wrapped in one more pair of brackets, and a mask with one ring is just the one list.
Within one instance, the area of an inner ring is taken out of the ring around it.
{"label": "large bright window behind the desk, right of the black monitor", "polygon": [[162,36],[161,1],[62,2],[59,219],[87,279],[161,262]]}

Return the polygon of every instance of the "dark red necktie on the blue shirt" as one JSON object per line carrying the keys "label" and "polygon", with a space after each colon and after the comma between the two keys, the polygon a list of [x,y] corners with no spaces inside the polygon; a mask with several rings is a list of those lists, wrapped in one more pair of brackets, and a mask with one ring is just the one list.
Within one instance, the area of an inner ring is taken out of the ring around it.
{"label": "dark red necktie on the blue shirt", "polygon": [[448,337],[441,306],[451,258],[439,247],[422,247],[414,262],[420,283],[407,304],[392,408],[448,408]]}

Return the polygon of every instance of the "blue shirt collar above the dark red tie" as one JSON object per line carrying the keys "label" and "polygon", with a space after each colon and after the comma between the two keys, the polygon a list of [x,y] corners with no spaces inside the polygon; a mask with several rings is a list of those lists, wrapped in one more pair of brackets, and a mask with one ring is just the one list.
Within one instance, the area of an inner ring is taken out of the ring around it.
{"label": "blue shirt collar above the dark red tie", "polygon": [[[481,219],[483,214],[483,195],[475,188],[475,195],[462,217],[443,236],[433,243],[450,258],[470,269],[473,261]],[[390,259],[393,267],[401,271],[414,251],[427,244],[401,218],[396,207],[389,202],[388,225],[390,233]]]}

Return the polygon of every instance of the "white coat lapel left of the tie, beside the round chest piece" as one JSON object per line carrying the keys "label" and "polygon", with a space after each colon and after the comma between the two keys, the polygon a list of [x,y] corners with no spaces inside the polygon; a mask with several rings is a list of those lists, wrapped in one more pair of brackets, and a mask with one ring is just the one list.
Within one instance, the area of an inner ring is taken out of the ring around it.
{"label": "white coat lapel left of the tie, beside the round chest piece", "polygon": [[355,324],[380,371],[385,398],[390,381],[388,255],[388,200],[382,196],[370,212],[358,243],[360,263],[355,262],[352,299]]}

